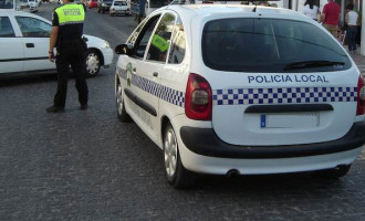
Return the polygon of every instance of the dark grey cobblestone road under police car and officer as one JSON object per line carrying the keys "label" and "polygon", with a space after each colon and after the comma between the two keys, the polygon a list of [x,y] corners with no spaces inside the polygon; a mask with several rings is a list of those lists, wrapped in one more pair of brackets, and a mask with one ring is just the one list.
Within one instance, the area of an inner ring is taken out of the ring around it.
{"label": "dark grey cobblestone road under police car and officer", "polygon": [[206,176],[195,189],[170,188],[163,152],[135,124],[117,122],[113,72],[87,81],[86,112],[73,80],[62,114],[45,113],[54,76],[1,84],[0,220],[365,220],[364,151],[340,180]]}

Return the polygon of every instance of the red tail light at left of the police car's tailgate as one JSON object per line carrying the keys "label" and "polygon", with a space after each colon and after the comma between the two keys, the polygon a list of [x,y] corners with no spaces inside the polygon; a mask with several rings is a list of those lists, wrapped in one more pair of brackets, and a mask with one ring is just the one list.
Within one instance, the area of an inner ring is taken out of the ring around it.
{"label": "red tail light at left of the police car's tailgate", "polygon": [[211,88],[206,78],[190,74],[185,94],[185,114],[190,119],[211,120]]}

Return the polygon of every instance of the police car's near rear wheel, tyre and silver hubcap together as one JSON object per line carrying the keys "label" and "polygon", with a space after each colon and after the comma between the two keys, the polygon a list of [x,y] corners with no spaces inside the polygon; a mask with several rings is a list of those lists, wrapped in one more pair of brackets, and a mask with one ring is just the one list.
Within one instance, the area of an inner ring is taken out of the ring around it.
{"label": "police car's near rear wheel, tyre and silver hubcap together", "polygon": [[177,189],[195,186],[196,173],[184,167],[176,134],[170,123],[168,123],[164,133],[164,162],[165,175],[170,186]]}

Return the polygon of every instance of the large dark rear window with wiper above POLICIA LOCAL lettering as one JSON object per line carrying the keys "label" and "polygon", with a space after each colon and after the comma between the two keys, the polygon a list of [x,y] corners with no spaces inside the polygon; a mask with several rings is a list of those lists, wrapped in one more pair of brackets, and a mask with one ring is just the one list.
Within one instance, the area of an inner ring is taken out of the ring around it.
{"label": "large dark rear window with wiper above POLICIA LOCAL lettering", "polygon": [[222,19],[202,33],[207,66],[232,72],[333,72],[351,67],[344,50],[317,27],[275,19]]}

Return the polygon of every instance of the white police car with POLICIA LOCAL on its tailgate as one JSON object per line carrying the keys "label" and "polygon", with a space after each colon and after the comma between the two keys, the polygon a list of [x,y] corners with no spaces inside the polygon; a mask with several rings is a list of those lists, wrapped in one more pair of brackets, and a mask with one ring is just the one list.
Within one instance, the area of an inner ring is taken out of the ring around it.
{"label": "white police car with POLICIA LOCAL on its tailgate", "polygon": [[115,75],[119,120],[196,173],[347,173],[365,143],[364,80],[319,23],[253,6],[168,6],[132,33]]}

